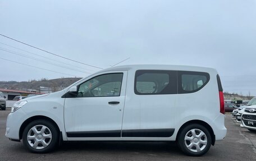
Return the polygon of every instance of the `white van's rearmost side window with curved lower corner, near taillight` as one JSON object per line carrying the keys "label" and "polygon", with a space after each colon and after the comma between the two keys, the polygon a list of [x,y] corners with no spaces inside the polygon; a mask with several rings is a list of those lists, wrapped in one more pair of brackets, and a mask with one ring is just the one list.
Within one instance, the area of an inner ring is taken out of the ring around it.
{"label": "white van's rearmost side window with curved lower corner, near taillight", "polygon": [[178,93],[194,93],[202,89],[209,81],[209,73],[178,71]]}

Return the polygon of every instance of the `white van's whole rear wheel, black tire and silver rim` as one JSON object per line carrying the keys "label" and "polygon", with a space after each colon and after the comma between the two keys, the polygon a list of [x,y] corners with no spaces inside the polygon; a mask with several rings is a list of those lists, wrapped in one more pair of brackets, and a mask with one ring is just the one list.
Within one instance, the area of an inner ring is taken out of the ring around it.
{"label": "white van's whole rear wheel, black tire and silver rim", "polygon": [[207,153],[212,144],[212,137],[204,126],[190,124],[181,130],[177,143],[186,155],[196,157]]}

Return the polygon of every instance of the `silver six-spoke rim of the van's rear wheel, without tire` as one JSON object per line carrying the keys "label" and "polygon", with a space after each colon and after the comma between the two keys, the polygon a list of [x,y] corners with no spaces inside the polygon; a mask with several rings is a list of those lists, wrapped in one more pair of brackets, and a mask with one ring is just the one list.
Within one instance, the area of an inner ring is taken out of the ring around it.
{"label": "silver six-spoke rim of the van's rear wheel, without tire", "polygon": [[202,130],[194,128],[185,135],[185,145],[190,151],[200,152],[205,149],[207,145],[207,136]]}

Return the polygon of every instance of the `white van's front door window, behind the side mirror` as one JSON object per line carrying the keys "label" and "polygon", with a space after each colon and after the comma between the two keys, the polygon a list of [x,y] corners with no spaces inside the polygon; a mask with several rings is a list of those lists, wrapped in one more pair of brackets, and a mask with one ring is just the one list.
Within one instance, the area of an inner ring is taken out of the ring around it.
{"label": "white van's front door window, behind the side mirror", "polygon": [[77,97],[120,96],[123,73],[96,76],[79,86]]}

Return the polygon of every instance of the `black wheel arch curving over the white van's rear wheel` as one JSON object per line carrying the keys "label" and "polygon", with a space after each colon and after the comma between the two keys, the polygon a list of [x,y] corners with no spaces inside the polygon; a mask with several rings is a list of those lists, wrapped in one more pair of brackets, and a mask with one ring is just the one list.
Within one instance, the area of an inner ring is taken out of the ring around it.
{"label": "black wheel arch curving over the white van's rear wheel", "polygon": [[198,120],[198,119],[193,119],[193,120],[190,120],[188,122],[185,122],[179,129],[179,131],[177,132],[177,135],[176,135],[176,140],[178,139],[179,135],[180,135],[180,132],[182,131],[182,129],[188,125],[191,125],[191,124],[199,124],[199,125],[202,125],[204,126],[205,128],[207,128],[207,130],[210,132],[211,134],[211,138],[212,138],[212,145],[215,144],[215,135],[214,135],[214,132],[213,132],[213,129],[212,127],[207,123],[207,122],[204,122],[202,120]]}

